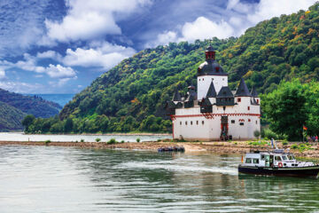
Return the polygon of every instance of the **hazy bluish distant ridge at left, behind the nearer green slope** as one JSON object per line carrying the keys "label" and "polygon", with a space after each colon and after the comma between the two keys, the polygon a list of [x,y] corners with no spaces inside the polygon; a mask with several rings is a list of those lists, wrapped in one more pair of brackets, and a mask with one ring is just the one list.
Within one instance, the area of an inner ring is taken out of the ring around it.
{"label": "hazy bluish distant ridge at left, behind the nearer green slope", "polygon": [[25,96],[0,89],[0,101],[18,108],[25,114],[48,118],[58,114],[62,106],[37,96]]}

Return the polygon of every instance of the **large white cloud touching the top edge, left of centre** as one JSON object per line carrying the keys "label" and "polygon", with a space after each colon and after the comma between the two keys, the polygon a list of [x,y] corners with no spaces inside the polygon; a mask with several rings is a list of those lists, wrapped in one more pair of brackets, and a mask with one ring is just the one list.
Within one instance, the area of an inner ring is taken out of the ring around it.
{"label": "large white cloud touching the top edge, left of centre", "polygon": [[[70,8],[61,22],[45,20],[47,36],[59,42],[89,40],[105,35],[119,35],[121,28],[116,18],[136,8],[150,4],[146,0],[74,0],[68,1]],[[48,40],[45,41],[48,43]]]}

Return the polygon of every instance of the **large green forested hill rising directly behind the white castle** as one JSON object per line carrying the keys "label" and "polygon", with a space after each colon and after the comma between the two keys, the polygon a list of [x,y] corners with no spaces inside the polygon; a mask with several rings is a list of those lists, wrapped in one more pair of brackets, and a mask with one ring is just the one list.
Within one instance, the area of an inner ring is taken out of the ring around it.
{"label": "large green forested hill rising directly behind the white castle", "polygon": [[198,65],[211,44],[216,59],[230,74],[231,89],[244,76],[259,92],[276,89],[281,80],[318,80],[319,4],[308,11],[259,23],[239,38],[169,43],[136,53],[98,77],[59,114],[35,120],[29,131],[167,131],[163,106],[175,88],[183,94],[196,85]]}

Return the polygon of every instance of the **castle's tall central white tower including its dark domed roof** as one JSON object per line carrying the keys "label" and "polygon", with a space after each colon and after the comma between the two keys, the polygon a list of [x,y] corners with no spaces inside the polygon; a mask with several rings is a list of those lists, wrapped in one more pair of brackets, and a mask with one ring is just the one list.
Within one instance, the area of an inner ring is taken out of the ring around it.
{"label": "castle's tall central white tower including its dark domed roof", "polygon": [[198,67],[198,99],[206,98],[207,91],[214,83],[214,89],[218,93],[223,86],[228,86],[228,74],[215,60],[215,51],[209,46],[206,51],[206,61]]}

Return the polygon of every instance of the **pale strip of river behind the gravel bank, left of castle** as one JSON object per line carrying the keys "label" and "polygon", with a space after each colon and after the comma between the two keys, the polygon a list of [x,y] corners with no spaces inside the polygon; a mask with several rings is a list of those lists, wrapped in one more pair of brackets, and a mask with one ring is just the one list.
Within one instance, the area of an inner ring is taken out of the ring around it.
{"label": "pale strip of river behind the gravel bank, left of castle", "polygon": [[26,135],[22,132],[0,132],[0,141],[62,141],[62,142],[95,142],[100,138],[102,142],[115,138],[117,141],[136,142],[137,138],[141,141],[156,141],[157,139],[172,138],[171,135]]}

